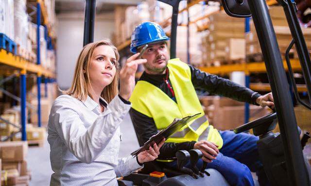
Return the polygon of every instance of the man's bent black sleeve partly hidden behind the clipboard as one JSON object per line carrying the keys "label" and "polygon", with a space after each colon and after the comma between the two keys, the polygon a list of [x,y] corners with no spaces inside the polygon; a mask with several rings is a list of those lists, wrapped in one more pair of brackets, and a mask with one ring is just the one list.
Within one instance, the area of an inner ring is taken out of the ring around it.
{"label": "man's bent black sleeve partly hidden behind the clipboard", "polygon": [[[152,136],[158,133],[153,118],[150,118],[133,108],[130,109],[130,116],[140,146],[142,146]],[[158,159],[174,157],[175,153],[179,150],[189,151],[193,149],[194,143],[195,141],[187,141],[182,143],[164,143],[163,146],[160,148],[160,155],[158,156]]]}

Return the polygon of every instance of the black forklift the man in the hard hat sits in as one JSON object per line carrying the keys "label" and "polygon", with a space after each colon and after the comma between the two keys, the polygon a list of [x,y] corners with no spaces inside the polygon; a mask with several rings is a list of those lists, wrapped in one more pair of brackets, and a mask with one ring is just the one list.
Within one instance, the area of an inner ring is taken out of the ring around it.
{"label": "black forklift the man in the hard hat sits in", "polygon": [[[176,57],[176,31],[178,6],[181,0],[159,0],[173,7],[171,28],[171,58]],[[298,103],[311,109],[311,59],[304,40],[297,16],[296,4],[292,0],[276,0],[284,9],[293,40],[286,50],[290,83]],[[297,127],[294,106],[287,82],[280,50],[273,29],[271,17],[265,0],[222,0],[225,12],[229,16],[253,18],[267,74],[272,89],[275,110],[255,121],[234,129],[235,133],[253,130],[259,136],[257,142],[259,157],[264,171],[272,186],[311,186],[311,167],[302,150],[310,133],[303,134]],[[84,46],[93,42],[96,0],[86,0]],[[307,86],[308,101],[303,101],[298,94],[294,74],[290,63],[289,51],[295,45],[303,77]],[[278,122],[280,133],[273,133]],[[229,186],[225,178],[213,169],[198,170],[196,162],[202,158],[202,152],[193,149],[176,152],[177,170],[161,167],[151,162],[138,173],[131,173],[118,180],[119,186]],[[190,160],[191,168],[184,166]],[[151,165],[151,166],[150,166]],[[150,173],[151,170],[155,172]],[[255,183],[256,184],[256,183]],[[258,183],[257,183],[258,184]]]}

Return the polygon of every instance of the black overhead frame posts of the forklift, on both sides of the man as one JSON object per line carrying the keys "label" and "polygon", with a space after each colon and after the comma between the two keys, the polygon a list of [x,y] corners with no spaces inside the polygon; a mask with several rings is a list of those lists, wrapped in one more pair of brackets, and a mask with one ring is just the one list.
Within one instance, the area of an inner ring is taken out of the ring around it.
{"label": "black overhead frame posts of the forklift, on both sides of the man", "polygon": [[[181,0],[159,0],[173,6],[172,33],[171,33],[171,57],[175,57],[176,50],[176,29],[178,5]],[[223,0],[224,2],[225,0]],[[291,0],[277,0],[283,7],[285,15],[293,35],[297,48],[299,61],[302,66],[309,100],[311,101],[311,61],[303,39],[302,31],[294,12],[294,5]],[[259,43],[265,61],[267,74],[274,95],[277,119],[285,150],[286,167],[289,185],[306,186],[309,183],[306,166],[304,164],[301,144],[299,140],[297,123],[294,114],[294,106],[289,92],[289,85],[285,75],[280,50],[276,41],[276,34],[273,29],[271,17],[265,0],[226,0],[227,3],[240,4],[248,3],[251,16],[253,16]],[[93,42],[94,18],[96,0],[86,0],[84,46]],[[247,17],[247,16],[245,16]]]}

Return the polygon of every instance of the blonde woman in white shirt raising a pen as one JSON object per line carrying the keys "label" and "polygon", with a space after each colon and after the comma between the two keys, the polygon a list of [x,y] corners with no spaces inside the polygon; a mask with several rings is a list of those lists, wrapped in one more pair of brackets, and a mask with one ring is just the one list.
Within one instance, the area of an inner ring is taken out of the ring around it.
{"label": "blonde woman in white shirt raising a pen", "polygon": [[[117,186],[124,176],[159,155],[164,140],[136,157],[118,158],[120,123],[131,104],[139,54],[119,68],[119,53],[109,41],[86,45],[81,51],[72,85],[52,105],[48,141],[52,186]],[[120,93],[118,80],[120,71]]]}

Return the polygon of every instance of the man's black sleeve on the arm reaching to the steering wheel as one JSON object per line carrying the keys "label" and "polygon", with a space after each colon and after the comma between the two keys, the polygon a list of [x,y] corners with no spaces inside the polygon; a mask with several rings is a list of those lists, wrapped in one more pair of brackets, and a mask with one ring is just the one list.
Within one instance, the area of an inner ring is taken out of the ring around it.
{"label": "man's black sleeve on the arm reaching to the steering wheel", "polygon": [[189,67],[191,71],[191,81],[195,89],[205,90],[208,93],[258,105],[256,99],[260,96],[259,93],[230,81],[229,79],[220,78],[216,75],[203,72],[191,65],[189,65]]}

